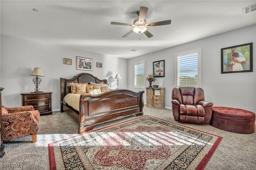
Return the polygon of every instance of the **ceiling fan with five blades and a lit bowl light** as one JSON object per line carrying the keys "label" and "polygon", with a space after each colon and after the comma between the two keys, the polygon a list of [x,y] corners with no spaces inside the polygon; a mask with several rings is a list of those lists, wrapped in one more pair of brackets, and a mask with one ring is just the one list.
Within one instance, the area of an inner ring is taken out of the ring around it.
{"label": "ceiling fan with five blades and a lit bowl light", "polygon": [[137,15],[139,16],[139,18],[135,19],[133,24],[126,24],[121,22],[111,22],[110,24],[122,25],[122,26],[134,26],[134,28],[130,32],[122,36],[124,38],[132,34],[132,32],[135,32],[138,34],[144,33],[148,38],[151,38],[153,37],[153,35],[150,32],[148,32],[147,27],[171,24],[171,20],[152,22],[152,23],[146,24],[145,17],[147,12],[148,12],[148,8],[141,6],[140,11],[137,12]]}

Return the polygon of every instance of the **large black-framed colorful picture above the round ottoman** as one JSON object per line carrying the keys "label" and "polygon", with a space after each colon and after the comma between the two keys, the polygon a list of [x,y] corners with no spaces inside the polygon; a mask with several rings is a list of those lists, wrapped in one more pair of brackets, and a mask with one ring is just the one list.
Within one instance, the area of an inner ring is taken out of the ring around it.
{"label": "large black-framed colorful picture above the round ottoman", "polygon": [[221,73],[252,72],[252,43],[221,49]]}

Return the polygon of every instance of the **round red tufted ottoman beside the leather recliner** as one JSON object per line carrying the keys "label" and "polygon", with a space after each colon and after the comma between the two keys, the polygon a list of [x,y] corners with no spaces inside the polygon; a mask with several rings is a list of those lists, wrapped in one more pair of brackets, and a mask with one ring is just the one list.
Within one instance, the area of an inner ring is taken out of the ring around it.
{"label": "round red tufted ottoman beside the leather recliner", "polygon": [[212,107],[213,127],[234,133],[251,134],[255,130],[255,114],[231,107]]}

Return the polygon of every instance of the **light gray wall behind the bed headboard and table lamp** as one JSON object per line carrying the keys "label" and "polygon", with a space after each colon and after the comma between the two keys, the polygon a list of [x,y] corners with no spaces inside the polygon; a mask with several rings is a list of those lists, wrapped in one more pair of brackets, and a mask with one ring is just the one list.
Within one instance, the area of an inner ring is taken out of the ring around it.
{"label": "light gray wall behind the bed headboard and table lamp", "polygon": [[[99,79],[119,73],[122,79],[119,87],[127,89],[127,59],[106,57],[77,49],[44,44],[21,38],[1,35],[0,87],[2,105],[6,107],[21,106],[20,93],[32,92],[35,85],[30,76],[34,67],[40,67],[45,77],[39,88],[41,91],[52,91],[52,109],[60,109],[60,77],[72,78],[82,72],[90,73]],[[93,59],[93,71],[76,69],[76,56]],[[72,59],[72,65],[63,64],[63,58]],[[102,68],[96,67],[102,63]],[[108,79],[108,83],[115,81]]]}

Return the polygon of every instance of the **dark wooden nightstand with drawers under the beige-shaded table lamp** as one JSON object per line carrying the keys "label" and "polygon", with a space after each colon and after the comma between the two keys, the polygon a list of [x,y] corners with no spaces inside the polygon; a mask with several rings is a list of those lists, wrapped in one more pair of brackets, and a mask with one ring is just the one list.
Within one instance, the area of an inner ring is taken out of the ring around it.
{"label": "dark wooden nightstand with drawers under the beige-shaded table lamp", "polygon": [[52,115],[52,92],[21,93],[22,106],[32,105],[40,114]]}

